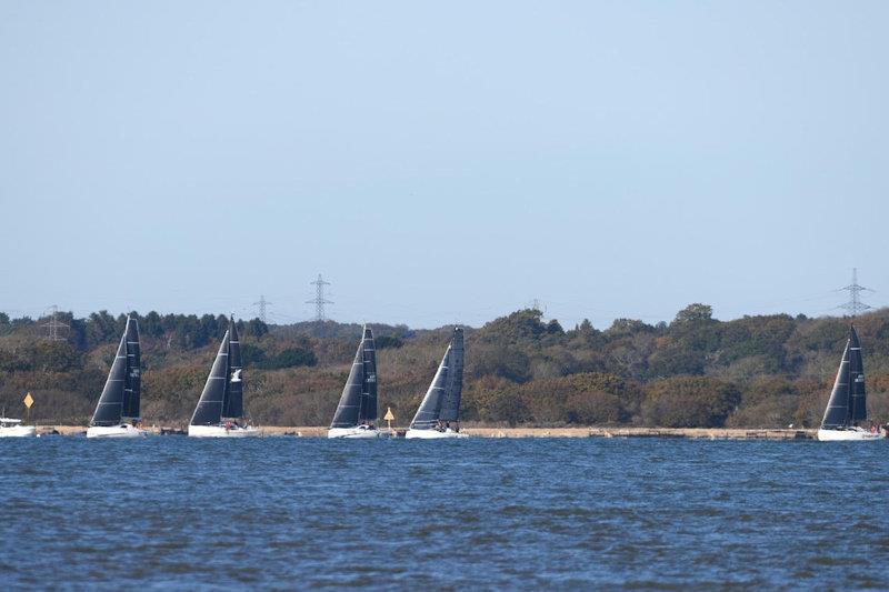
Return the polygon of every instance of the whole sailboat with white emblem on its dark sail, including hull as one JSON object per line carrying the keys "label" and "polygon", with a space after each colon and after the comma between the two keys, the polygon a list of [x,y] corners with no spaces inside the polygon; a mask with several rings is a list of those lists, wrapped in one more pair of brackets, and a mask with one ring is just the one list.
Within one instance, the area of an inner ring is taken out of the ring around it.
{"label": "whole sailboat with white emblem on its dark sail, including hull", "polygon": [[243,365],[234,318],[219,344],[207,384],[191,415],[188,434],[193,438],[249,438],[259,430],[243,421]]}

